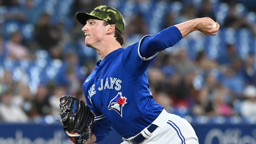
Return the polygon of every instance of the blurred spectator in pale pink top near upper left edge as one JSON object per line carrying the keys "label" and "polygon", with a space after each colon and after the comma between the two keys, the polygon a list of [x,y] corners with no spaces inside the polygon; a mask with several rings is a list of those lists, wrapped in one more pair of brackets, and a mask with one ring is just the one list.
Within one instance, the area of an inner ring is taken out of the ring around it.
{"label": "blurred spectator in pale pink top near upper left edge", "polygon": [[29,50],[22,44],[23,36],[20,31],[14,31],[11,34],[10,41],[6,43],[8,57],[13,60],[22,60],[29,58]]}

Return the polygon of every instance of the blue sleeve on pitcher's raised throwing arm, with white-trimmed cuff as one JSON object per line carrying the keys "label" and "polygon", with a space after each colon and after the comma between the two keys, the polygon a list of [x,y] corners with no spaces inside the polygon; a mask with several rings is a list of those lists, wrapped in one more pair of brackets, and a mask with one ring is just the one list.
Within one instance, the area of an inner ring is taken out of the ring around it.
{"label": "blue sleeve on pitcher's raised throwing arm, with white-trimmed cuff", "polygon": [[128,46],[122,55],[122,63],[128,74],[138,77],[143,74],[156,54],[182,39],[176,26],[171,26],[156,35],[146,35],[140,42]]}

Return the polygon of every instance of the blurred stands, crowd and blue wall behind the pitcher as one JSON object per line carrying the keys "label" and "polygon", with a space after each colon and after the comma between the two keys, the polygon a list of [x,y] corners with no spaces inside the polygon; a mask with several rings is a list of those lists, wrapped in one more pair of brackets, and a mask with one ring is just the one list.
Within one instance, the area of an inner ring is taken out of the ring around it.
{"label": "blurred stands, crowd and blue wall behind the pitcher", "polygon": [[[0,144],[72,144],[59,98],[84,99],[99,60],[84,44],[78,11],[98,5],[126,20],[126,48],[194,18],[220,24],[160,52],[148,79],[155,100],[194,127],[200,144],[256,144],[256,0],[0,0]],[[116,132],[99,144],[119,144]]]}

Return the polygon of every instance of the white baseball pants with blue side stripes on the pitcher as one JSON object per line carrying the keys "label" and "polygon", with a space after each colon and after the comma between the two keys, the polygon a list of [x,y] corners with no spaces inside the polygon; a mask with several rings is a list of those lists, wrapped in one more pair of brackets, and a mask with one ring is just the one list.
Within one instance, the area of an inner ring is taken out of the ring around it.
{"label": "white baseball pants with blue side stripes on the pitcher", "polygon": [[[199,144],[196,133],[188,121],[175,114],[169,114],[166,110],[163,110],[152,124],[156,124],[158,128],[140,144]],[[130,144],[128,140],[136,136],[123,138],[124,142],[121,144]]]}

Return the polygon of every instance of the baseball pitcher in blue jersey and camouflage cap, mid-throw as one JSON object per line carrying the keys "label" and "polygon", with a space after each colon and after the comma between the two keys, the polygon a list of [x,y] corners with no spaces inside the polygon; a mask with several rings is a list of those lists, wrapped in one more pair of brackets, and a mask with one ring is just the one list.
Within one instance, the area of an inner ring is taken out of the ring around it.
{"label": "baseball pitcher in blue jersey and camouflage cap, mid-throw", "polygon": [[146,70],[158,52],[190,32],[216,35],[220,25],[211,18],[196,18],[122,48],[125,21],[115,8],[98,6],[90,14],[78,12],[76,19],[84,26],[85,44],[101,60],[82,85],[87,106],[75,96],[60,99],[60,121],[72,142],[99,142],[114,129],[122,144],[198,144],[185,119],[155,102]]}

